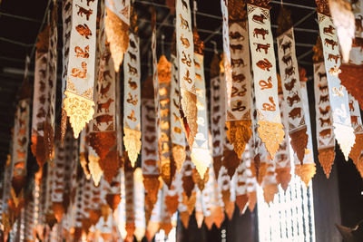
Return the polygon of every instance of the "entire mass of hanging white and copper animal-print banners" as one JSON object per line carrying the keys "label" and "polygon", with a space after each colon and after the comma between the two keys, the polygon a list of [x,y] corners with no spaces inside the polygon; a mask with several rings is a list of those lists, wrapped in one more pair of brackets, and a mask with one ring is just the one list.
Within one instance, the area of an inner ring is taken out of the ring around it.
{"label": "entire mass of hanging white and copper animal-print banners", "polygon": [[[335,2],[317,0],[320,36],[313,61],[319,162],[329,177],[337,140],[346,160],[350,157],[363,175],[363,103],[355,84],[363,68],[363,3],[356,1],[350,9]],[[1,193],[5,237],[150,240],[160,229],[169,234],[177,211],[184,227],[193,210],[199,227],[203,222],[221,227],[235,204],[241,213],[254,209],[258,186],[271,202],[279,185],[288,189],[291,174],[309,185],[316,169],[313,107],[289,11],[282,8],[278,18],[279,76],[269,1],[221,1],[223,58],[215,53],[211,61],[207,100],[204,44],[196,24],[191,27],[189,1],[176,0],[174,6],[170,61],[164,55],[157,61],[152,11],[152,66],[142,83],[130,0],[64,1],[59,6],[62,123],[55,125],[54,1],[36,46],[32,127],[26,80],[15,113]],[[34,183],[25,186],[29,143],[40,169]],[[141,167],[136,166],[139,157]]]}

